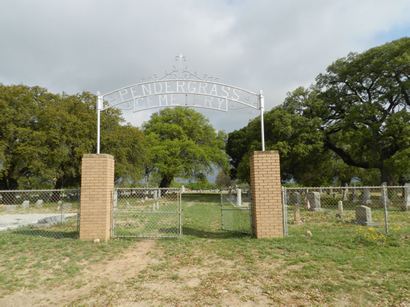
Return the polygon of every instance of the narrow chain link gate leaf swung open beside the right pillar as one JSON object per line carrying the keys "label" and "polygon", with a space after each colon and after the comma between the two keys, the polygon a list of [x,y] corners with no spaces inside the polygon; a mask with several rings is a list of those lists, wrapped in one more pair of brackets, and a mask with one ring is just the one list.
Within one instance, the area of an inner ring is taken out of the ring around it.
{"label": "narrow chain link gate leaf swung open beside the right pillar", "polygon": [[251,193],[249,190],[221,191],[222,230],[252,233]]}

